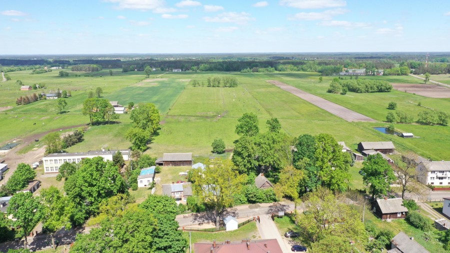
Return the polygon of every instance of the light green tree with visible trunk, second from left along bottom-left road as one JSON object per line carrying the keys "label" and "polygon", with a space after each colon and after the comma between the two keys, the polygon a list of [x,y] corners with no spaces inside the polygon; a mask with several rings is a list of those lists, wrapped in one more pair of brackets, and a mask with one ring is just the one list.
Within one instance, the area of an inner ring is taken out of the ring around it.
{"label": "light green tree with visible trunk, second from left along bottom-left road", "polygon": [[72,215],[75,206],[55,186],[42,189],[40,191],[40,200],[44,213],[42,216],[42,228],[50,234],[51,245],[54,250],[56,248],[54,234],[62,228],[69,230],[72,227],[70,215]]}

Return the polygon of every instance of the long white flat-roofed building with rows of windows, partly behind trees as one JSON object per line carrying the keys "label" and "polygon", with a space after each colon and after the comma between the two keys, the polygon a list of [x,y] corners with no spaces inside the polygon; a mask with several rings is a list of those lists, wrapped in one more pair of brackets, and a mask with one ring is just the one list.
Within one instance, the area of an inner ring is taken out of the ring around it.
{"label": "long white flat-roofed building with rows of windows, partly behind trees", "polygon": [[84,158],[93,158],[96,156],[103,157],[104,160],[112,160],[112,156],[115,152],[120,151],[124,160],[129,159],[131,150],[89,150],[87,152],[75,152],[75,153],[50,153],[45,155],[43,160],[44,173],[57,173],[59,172],[59,166],[64,162],[78,163]]}

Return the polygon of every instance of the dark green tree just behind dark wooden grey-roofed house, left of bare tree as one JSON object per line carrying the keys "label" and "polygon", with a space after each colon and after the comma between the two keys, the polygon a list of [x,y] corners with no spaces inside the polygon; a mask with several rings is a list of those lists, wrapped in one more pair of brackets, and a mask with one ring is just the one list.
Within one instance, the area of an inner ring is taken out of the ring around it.
{"label": "dark green tree just behind dark wooden grey-roofed house, left of bare tree", "polygon": [[369,186],[369,193],[372,199],[385,195],[390,189],[390,183],[395,180],[392,167],[387,160],[377,153],[368,155],[367,160],[362,162],[362,180],[365,185]]}

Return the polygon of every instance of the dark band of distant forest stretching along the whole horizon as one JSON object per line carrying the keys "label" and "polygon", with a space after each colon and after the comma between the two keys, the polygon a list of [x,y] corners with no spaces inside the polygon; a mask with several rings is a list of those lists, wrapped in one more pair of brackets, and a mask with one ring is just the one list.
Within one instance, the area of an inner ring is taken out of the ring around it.
{"label": "dark band of distant forest stretching along the whole horizon", "polygon": [[[77,56],[79,58],[76,58]],[[173,68],[180,68],[183,71],[309,71],[331,75],[342,71],[343,67],[391,69],[407,66],[415,74],[450,73],[450,53],[430,53],[427,67],[425,67],[425,53],[155,54],[145,58],[143,56],[48,55],[48,58],[31,58],[33,56],[29,55],[31,59],[26,59],[26,56],[18,55],[14,58],[0,59],[0,69],[9,72],[44,66],[77,69],[79,67],[76,65],[97,65],[98,69],[121,68],[123,72],[127,72],[142,71],[148,65],[161,71]],[[115,58],[111,59],[113,57]]]}

